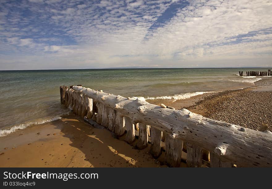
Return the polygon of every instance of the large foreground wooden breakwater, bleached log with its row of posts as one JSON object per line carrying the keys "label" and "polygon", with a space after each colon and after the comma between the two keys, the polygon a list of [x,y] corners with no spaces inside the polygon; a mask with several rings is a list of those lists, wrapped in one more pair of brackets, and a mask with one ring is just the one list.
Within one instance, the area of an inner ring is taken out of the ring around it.
{"label": "large foreground wooden breakwater, bleached log with its row of posts", "polygon": [[[61,103],[91,124],[102,125],[136,147],[148,146],[159,157],[165,144],[165,162],[179,167],[186,151],[188,167],[272,167],[272,133],[212,120],[187,109],[173,110],[139,99],[60,86]],[[136,135],[138,133],[138,136]],[[209,155],[209,158],[207,157]]]}

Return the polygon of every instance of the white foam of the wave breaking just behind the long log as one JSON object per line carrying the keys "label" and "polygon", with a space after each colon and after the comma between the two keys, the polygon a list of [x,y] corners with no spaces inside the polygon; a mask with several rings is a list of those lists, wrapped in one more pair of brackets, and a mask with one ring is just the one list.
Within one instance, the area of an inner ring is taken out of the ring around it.
{"label": "white foam of the wave breaking just behind the long log", "polygon": [[204,94],[204,93],[214,93],[214,91],[210,92],[193,92],[193,93],[185,93],[185,94],[175,94],[173,96],[157,96],[157,97],[142,97],[142,96],[137,96],[137,97],[132,97],[132,99],[139,99],[139,100],[156,100],[156,99],[172,99],[174,102],[176,100],[182,100],[182,99],[189,99],[193,96],[199,95],[199,94]]}

